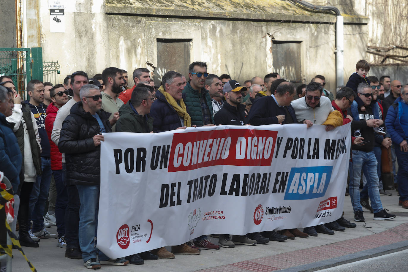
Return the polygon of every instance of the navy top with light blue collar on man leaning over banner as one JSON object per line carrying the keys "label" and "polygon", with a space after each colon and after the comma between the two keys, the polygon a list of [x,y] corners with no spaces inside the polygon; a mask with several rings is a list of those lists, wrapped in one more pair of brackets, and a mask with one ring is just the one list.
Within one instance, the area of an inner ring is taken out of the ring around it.
{"label": "navy top with light blue collar on man leaning over banner", "polygon": [[[292,106],[286,106],[293,123],[297,123],[295,110]],[[279,124],[277,115],[285,115],[282,124],[288,123],[287,112],[284,107],[278,106],[271,95],[259,97],[256,99],[249,111],[249,124],[252,126]]]}

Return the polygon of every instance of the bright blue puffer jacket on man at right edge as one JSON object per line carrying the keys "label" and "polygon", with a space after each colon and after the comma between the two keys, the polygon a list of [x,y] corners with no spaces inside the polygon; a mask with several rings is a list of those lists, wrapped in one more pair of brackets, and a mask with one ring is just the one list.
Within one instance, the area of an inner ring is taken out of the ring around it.
{"label": "bright blue puffer jacket on man at right edge", "polygon": [[399,123],[399,102],[401,102],[401,97],[398,97],[388,108],[387,117],[385,118],[385,126],[394,144],[400,144],[404,139],[407,139],[407,135]]}

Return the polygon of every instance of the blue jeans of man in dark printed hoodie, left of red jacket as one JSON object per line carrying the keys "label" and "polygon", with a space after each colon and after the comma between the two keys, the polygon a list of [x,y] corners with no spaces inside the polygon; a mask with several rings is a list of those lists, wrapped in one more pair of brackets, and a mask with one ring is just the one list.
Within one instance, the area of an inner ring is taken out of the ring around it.
{"label": "blue jeans of man in dark printed hoodie, left of red jacket", "polygon": [[41,157],[41,168],[42,175],[37,175],[30,195],[29,215],[33,221],[33,232],[44,228],[43,215],[52,174],[50,157]]}

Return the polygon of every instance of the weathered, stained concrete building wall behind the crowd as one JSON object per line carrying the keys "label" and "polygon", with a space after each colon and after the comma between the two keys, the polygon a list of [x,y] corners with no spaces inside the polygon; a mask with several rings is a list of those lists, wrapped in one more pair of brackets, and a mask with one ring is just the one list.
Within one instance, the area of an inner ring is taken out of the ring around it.
{"label": "weathered, stained concrete building wall behind the crowd", "polygon": [[[208,71],[217,75],[227,73],[228,68],[235,80],[243,82],[255,75],[263,77],[279,69],[272,65],[273,37],[279,41],[302,41],[302,80],[310,82],[316,74],[322,74],[326,77],[326,88],[335,90],[336,87],[334,15],[317,14],[313,19],[320,22],[303,23],[266,20],[271,19],[272,15],[265,17],[260,13],[247,17],[240,14],[244,17],[235,20],[217,18],[218,15],[213,15],[214,18],[191,18],[186,12],[183,13],[186,15],[175,18],[172,15],[176,15],[176,11],[173,14],[173,11],[166,10],[166,15],[171,18],[162,18],[135,16],[138,11],[134,7],[118,8],[118,12],[114,13],[116,8],[106,8],[102,0],[67,1],[67,5],[65,33],[50,33],[47,1],[39,1],[38,22],[43,59],[58,60],[61,65],[60,81],[73,71],[84,70],[92,76],[109,66],[125,69],[130,74],[139,67],[152,71],[148,63],[157,66],[156,39],[164,38],[192,39],[191,62],[207,62]],[[146,14],[159,13],[157,9],[146,10]],[[108,11],[110,15],[106,14]],[[311,17],[302,16],[303,21],[307,18],[311,20]],[[291,19],[290,16],[281,18]],[[350,22],[344,26],[344,84],[355,71],[357,60],[365,55],[367,42],[364,35],[367,32],[366,24]],[[37,40],[38,37],[32,35],[31,43]]]}

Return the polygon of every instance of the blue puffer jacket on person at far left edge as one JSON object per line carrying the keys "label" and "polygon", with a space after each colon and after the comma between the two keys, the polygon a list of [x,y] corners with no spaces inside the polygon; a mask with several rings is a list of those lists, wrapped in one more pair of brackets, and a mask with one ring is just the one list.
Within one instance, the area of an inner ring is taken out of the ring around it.
{"label": "blue puffer jacket on person at far left edge", "polygon": [[13,127],[14,124],[7,122],[0,113],[0,171],[10,180],[16,193],[20,184],[22,156]]}

